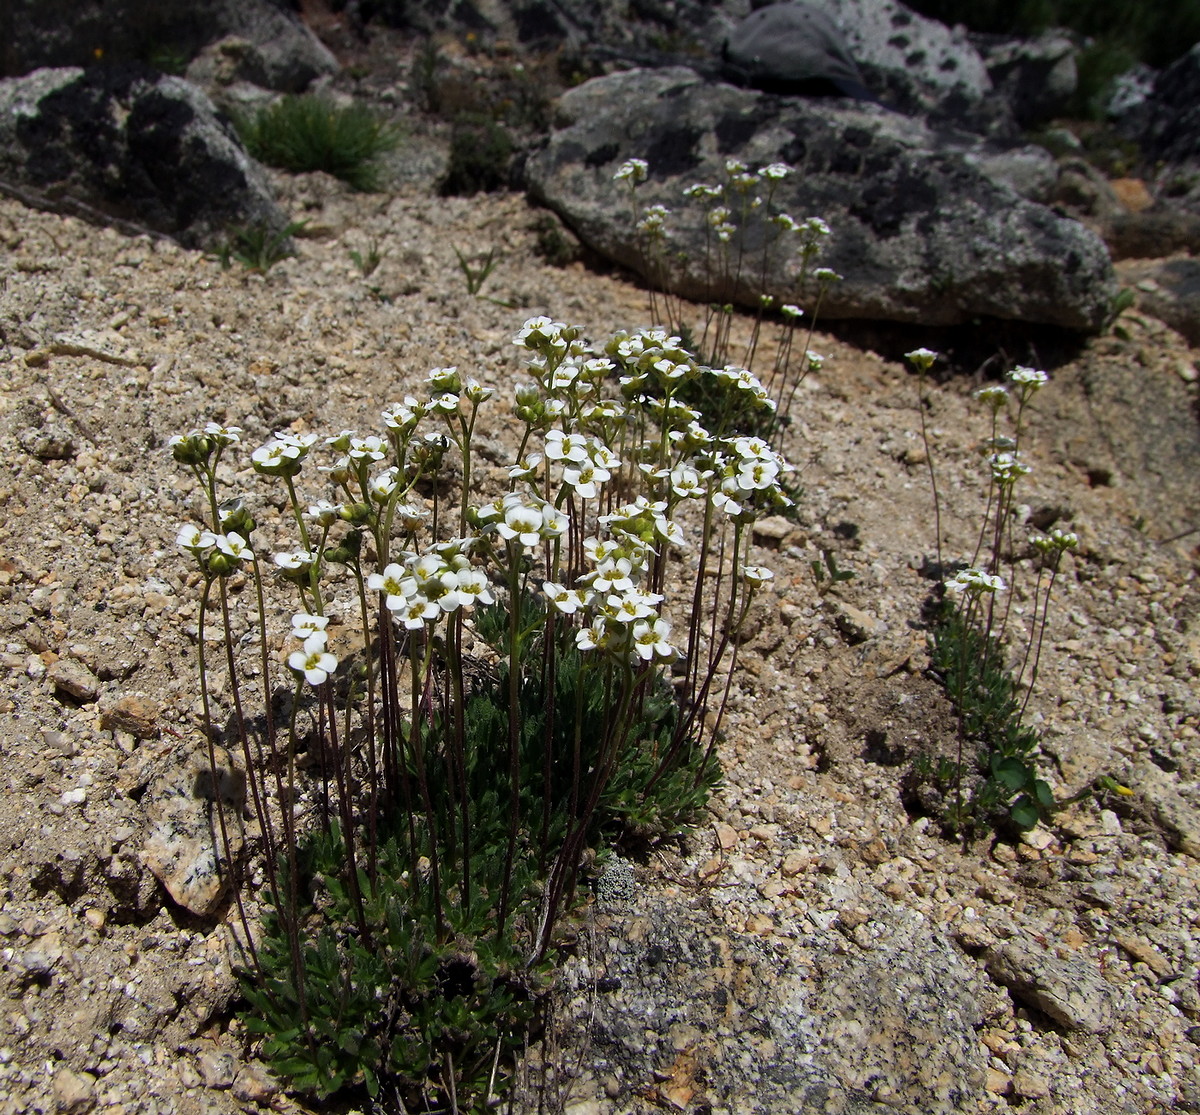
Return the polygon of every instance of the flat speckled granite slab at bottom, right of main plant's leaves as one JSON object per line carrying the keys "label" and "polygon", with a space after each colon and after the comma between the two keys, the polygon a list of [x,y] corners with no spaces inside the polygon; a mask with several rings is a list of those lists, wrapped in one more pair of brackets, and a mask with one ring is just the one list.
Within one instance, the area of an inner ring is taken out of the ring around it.
{"label": "flat speckled granite slab at bottom, right of main plant's leaves", "polygon": [[911,912],[863,928],[785,949],[670,893],[602,916],[557,993],[569,1041],[588,1041],[582,1091],[605,1081],[613,1101],[578,1110],[642,1110],[637,1096],[734,1115],[978,1110],[978,973]]}

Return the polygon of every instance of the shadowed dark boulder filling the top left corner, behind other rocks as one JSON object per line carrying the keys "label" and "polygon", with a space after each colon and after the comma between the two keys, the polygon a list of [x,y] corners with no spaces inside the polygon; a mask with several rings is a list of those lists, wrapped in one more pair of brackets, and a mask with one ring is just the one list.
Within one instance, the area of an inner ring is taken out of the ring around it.
{"label": "shadowed dark boulder filling the top left corner, behind other rocks", "polygon": [[47,66],[151,62],[182,67],[209,43],[234,35],[253,44],[262,80],[299,92],[337,60],[276,0],[6,0],[0,77]]}

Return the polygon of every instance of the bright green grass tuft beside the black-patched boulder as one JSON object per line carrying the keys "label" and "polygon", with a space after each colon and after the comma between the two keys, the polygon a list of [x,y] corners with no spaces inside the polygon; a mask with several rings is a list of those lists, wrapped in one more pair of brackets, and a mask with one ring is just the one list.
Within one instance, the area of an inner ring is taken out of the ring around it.
{"label": "bright green grass tuft beside the black-patched boulder", "polygon": [[400,143],[395,127],[368,108],[343,108],[311,95],[283,97],[236,125],[259,162],[281,170],[324,170],[362,191],[379,187],[379,158]]}

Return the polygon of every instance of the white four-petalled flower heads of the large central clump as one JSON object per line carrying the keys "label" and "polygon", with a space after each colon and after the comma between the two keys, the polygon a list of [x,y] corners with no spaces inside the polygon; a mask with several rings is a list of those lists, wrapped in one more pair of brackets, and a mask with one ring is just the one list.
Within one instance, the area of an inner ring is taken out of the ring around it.
{"label": "white four-petalled flower heads of the large central clump", "polygon": [[[574,630],[580,651],[643,667],[683,653],[664,605],[668,559],[685,545],[685,504],[698,508],[692,522],[703,523],[702,550],[722,523],[732,528],[733,545],[720,561],[736,575],[733,598],[744,605],[769,579],[746,564],[745,526],[788,502],[791,466],[762,438],[709,432],[704,415],[678,397],[685,384],[710,377],[769,410],[772,400],[754,376],[701,366],[661,329],[618,332],[594,349],[578,328],[542,317],[526,322],[514,340],[534,382],[516,390],[523,433],[508,491],[482,505],[469,503],[470,443],[491,391],[456,368],[434,368],[425,400],[388,406],[382,433],[343,430],[325,438],[336,456],[322,469],[329,486],[323,498],[301,500],[296,490],[318,436],[277,431],[251,454],[257,473],[287,488],[299,534],[298,547],[271,558],[300,597],[290,631],[300,646],[287,657],[298,679],[322,685],[337,667],[326,639],[331,567],[356,583],[340,607],[353,610],[355,597],[370,591],[403,633],[494,604],[503,586],[510,598],[540,595]],[[176,539],[209,583],[247,564],[259,570],[244,502],[217,502],[217,462],[239,442],[238,427],[217,424],[172,439],[176,461],[209,493],[211,524],[186,524]],[[432,498],[420,491],[451,448],[462,484],[458,505],[446,512],[437,485]],[[443,526],[448,536],[438,536],[439,523],[454,520],[457,530]],[[367,538],[374,571],[361,568]],[[689,653],[696,640],[692,629]]]}

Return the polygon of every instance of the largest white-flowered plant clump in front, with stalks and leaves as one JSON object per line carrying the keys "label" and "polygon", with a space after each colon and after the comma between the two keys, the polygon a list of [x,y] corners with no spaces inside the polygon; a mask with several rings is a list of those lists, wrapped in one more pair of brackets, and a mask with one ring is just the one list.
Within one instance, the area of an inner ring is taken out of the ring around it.
{"label": "largest white-flowered plant clump in front, with stalks and leaves", "polygon": [[[378,433],[281,431],[253,451],[295,528],[270,559],[246,504],[218,498],[240,431],[172,443],[209,506],[178,539],[203,586],[208,730],[218,605],[266,847],[247,1026],[320,1095],[390,1079],[466,1108],[503,1090],[589,847],[668,831],[716,779],[738,630],[770,577],[748,564],[749,526],[786,502],[790,466],[680,398],[721,377],[769,407],[752,377],[700,366],[661,330],[592,348],[535,318],[515,342],[532,377],[521,443],[484,502],[473,439],[492,392],[456,368],[386,407]],[[239,575],[256,586],[260,720],[238,682]],[[296,599],[276,661],[271,580]],[[348,627],[362,637],[336,640]]]}

